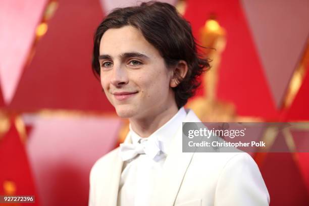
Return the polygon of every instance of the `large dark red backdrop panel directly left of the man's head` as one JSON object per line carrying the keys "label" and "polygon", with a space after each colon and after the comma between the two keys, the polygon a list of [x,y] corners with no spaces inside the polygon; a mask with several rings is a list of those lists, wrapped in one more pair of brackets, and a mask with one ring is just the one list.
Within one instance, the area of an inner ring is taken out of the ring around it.
{"label": "large dark red backdrop panel directly left of the man's head", "polygon": [[93,34],[103,18],[98,0],[60,0],[25,68],[11,109],[111,111],[91,71]]}

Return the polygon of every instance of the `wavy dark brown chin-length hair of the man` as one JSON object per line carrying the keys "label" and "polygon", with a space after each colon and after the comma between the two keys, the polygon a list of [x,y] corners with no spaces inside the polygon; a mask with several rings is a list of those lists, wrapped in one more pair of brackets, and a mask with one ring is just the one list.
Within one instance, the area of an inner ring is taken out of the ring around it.
{"label": "wavy dark brown chin-length hair of the man", "polygon": [[100,75],[99,47],[102,35],[111,28],[133,26],[160,52],[168,68],[183,60],[188,65],[184,78],[173,87],[178,108],[184,106],[200,85],[198,77],[210,68],[209,60],[198,54],[199,46],[187,22],[174,6],[161,2],[142,3],[136,7],[117,8],[99,24],[93,39],[92,71]]}

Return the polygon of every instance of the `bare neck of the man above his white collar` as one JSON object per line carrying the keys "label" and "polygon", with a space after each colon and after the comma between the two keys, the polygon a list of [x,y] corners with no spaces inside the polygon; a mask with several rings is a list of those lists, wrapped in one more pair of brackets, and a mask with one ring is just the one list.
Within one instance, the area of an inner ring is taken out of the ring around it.
{"label": "bare neck of the man above his white collar", "polygon": [[177,106],[153,114],[147,118],[130,119],[131,128],[140,137],[148,137],[167,123],[178,112]]}

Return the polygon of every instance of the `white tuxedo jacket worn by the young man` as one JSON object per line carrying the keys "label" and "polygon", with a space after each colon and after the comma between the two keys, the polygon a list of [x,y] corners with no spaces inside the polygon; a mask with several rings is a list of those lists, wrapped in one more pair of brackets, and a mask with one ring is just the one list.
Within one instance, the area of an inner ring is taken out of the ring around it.
{"label": "white tuxedo jacket worn by the young man", "polygon": [[[184,122],[200,120],[189,110]],[[260,170],[247,153],[182,152],[182,126],[172,145],[150,206],[269,205]],[[89,206],[117,205],[122,165],[119,147],[93,165]]]}

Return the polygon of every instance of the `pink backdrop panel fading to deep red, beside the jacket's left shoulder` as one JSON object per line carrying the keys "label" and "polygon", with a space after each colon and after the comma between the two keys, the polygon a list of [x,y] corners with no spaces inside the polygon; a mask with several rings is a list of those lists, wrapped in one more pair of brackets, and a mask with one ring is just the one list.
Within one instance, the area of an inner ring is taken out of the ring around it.
{"label": "pink backdrop panel fading to deep red, beside the jacket's left shoulder", "polygon": [[25,115],[27,152],[42,205],[86,205],[89,172],[117,142],[119,118]]}

